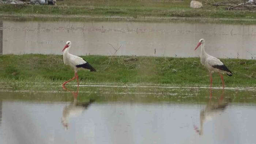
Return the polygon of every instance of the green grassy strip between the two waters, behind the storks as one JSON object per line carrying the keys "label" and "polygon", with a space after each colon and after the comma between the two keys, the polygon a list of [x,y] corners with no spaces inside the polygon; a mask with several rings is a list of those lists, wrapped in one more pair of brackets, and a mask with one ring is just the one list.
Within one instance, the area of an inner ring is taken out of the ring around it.
{"label": "green grassy strip between the two waters, behind the storks", "polygon": [[[199,58],[132,57],[132,56],[82,56],[97,72],[79,71],[81,83],[139,83],[202,85],[210,78]],[[222,59],[234,73],[225,75],[227,85],[255,86],[256,61]],[[1,55],[0,79],[51,81],[61,83],[71,79],[74,71],[63,64],[60,55]],[[75,83],[75,82],[74,82]],[[213,86],[221,86],[219,75],[213,76]]]}

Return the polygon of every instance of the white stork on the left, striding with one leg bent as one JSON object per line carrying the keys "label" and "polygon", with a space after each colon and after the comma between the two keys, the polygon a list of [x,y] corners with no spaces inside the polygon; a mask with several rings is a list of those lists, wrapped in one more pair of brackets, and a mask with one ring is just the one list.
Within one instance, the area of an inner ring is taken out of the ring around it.
{"label": "white stork on the left, striding with one leg bent", "polygon": [[71,48],[71,41],[67,41],[65,47],[63,48],[62,52],[63,53],[63,61],[65,65],[69,65],[72,68],[74,68],[75,71],[75,76],[66,82],[62,84],[62,87],[65,88],[65,84],[76,79],[77,84],[79,86],[79,80],[78,80],[78,74],[77,71],[79,69],[89,69],[91,72],[96,72],[96,69],[93,68],[86,60],[84,60],[81,57],[75,56],[73,54],[70,54],[68,51]]}

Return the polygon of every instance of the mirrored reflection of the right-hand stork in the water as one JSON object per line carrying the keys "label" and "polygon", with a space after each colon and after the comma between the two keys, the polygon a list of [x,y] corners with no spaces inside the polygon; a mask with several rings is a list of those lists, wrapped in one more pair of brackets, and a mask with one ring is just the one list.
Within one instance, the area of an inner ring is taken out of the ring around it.
{"label": "mirrored reflection of the right-hand stork in the water", "polygon": [[200,111],[200,129],[194,125],[194,129],[199,135],[203,135],[203,124],[206,121],[210,121],[212,118],[217,117],[226,109],[228,105],[228,101],[223,96],[224,89],[222,90],[222,94],[218,99],[218,102],[214,102],[212,100],[212,92],[210,90],[210,99],[207,103],[204,110]]}

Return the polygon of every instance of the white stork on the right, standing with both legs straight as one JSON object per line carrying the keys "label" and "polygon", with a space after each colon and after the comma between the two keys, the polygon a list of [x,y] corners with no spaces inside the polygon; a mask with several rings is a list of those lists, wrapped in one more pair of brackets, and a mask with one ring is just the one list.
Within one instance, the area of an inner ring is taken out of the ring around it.
{"label": "white stork on the right, standing with both legs straight", "polygon": [[205,44],[205,41],[202,38],[199,40],[199,43],[195,48],[195,50],[196,50],[200,45],[202,45],[201,46],[201,56],[200,56],[201,64],[204,65],[204,67],[206,67],[210,73],[211,86],[212,86],[212,73],[218,72],[219,75],[221,76],[222,86],[224,88],[224,80],[223,80],[222,74],[226,73],[228,76],[232,76],[233,73],[221,62],[221,60],[207,54],[204,50],[204,44]]}

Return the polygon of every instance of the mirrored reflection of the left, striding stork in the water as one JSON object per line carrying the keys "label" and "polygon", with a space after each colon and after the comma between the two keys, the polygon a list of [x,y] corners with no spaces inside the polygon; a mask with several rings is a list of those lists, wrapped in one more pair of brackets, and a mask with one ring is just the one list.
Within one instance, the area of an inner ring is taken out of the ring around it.
{"label": "mirrored reflection of the left, striding stork in the water", "polygon": [[65,129],[68,129],[68,120],[71,117],[78,117],[79,115],[81,115],[83,111],[86,110],[95,100],[90,99],[89,102],[79,102],[77,100],[79,87],[77,87],[76,91],[71,91],[68,88],[65,88],[65,90],[71,92],[74,96],[74,101],[64,107],[61,117],[62,125]]}

